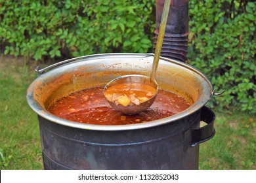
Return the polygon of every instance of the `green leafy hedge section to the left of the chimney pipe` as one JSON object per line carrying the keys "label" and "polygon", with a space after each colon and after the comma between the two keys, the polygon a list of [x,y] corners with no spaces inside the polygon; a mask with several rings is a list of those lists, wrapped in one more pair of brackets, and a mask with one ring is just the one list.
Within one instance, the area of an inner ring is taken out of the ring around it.
{"label": "green leafy hedge section to the left of the chimney pipe", "polygon": [[5,54],[33,59],[152,52],[152,1],[0,0]]}

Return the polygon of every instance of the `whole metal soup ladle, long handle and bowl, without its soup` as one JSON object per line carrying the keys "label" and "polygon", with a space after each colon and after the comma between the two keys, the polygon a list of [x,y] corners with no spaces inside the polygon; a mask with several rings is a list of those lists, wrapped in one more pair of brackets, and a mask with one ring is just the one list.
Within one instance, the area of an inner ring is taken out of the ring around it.
{"label": "whole metal soup ladle, long handle and bowl, without its soup", "polygon": [[[146,110],[148,107],[150,107],[155,99],[156,95],[159,90],[158,83],[156,82],[156,69],[158,69],[158,62],[160,59],[160,54],[161,54],[161,46],[163,44],[163,36],[165,33],[165,26],[167,23],[167,18],[168,18],[168,13],[169,13],[169,7],[171,5],[171,0],[165,0],[164,6],[163,6],[163,14],[161,16],[161,23],[160,23],[160,31],[158,34],[158,41],[156,42],[156,50],[154,54],[154,61],[152,65],[152,71],[150,74],[150,77],[144,76],[144,75],[126,75],[126,76],[120,76],[118,78],[115,78],[114,80],[110,81],[108,84],[106,84],[104,88],[104,95],[105,91],[110,87],[115,84],[120,84],[120,83],[146,83],[150,84],[151,86],[154,86],[156,88],[156,94],[147,101],[140,103],[139,105],[127,105],[126,107],[120,104],[117,104],[108,101],[110,103],[111,107],[114,108],[114,110],[117,110],[123,114],[128,114],[128,115],[133,115],[133,114],[138,114],[139,112],[142,112]],[[106,95],[105,95],[106,97]]]}

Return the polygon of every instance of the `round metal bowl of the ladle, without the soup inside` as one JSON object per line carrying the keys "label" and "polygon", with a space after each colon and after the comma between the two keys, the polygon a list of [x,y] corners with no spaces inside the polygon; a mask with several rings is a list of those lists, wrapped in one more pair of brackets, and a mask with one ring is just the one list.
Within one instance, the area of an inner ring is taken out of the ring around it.
{"label": "round metal bowl of the ladle, without the soup inside", "polygon": [[[156,80],[154,82],[151,82],[150,77],[144,76],[144,75],[126,75],[126,76],[120,76],[118,78],[115,78],[114,80],[110,81],[108,84],[106,84],[104,88],[104,95],[105,91],[112,86],[113,84],[119,84],[119,83],[145,83],[150,84],[151,86],[154,86],[156,88],[156,94],[153,95],[150,99],[145,101],[144,103],[140,103],[140,105],[127,105],[127,107],[108,101],[108,103],[111,105],[112,108],[115,110],[128,115],[138,114],[139,112],[142,112],[149,108],[155,101],[156,95],[159,90],[158,83]],[[106,96],[106,95],[105,95]]]}

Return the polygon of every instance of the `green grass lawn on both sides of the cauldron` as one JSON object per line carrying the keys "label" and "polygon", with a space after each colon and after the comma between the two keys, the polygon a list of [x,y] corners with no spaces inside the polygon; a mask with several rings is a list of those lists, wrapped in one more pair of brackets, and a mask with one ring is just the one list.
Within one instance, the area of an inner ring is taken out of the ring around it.
{"label": "green grass lawn on both sides of the cauldron", "polygon": [[[35,66],[0,56],[0,169],[43,169],[37,115],[26,101]],[[200,144],[200,169],[256,169],[255,115],[213,111],[216,135]]]}

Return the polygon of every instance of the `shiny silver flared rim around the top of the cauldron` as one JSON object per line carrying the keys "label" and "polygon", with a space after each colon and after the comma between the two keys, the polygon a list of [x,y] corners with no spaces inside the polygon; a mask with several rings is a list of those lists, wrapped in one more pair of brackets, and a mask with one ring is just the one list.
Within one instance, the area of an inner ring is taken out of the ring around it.
{"label": "shiny silver flared rim around the top of the cauldron", "polygon": [[[91,59],[94,57],[108,57],[108,56],[137,56],[137,57],[154,57],[154,54],[127,54],[127,53],[121,53],[121,54],[95,54],[95,55],[89,55],[89,56],[81,56],[79,58],[73,58],[75,61],[77,61],[77,59]],[[60,63],[65,63],[65,62],[70,62],[73,59],[68,59],[66,61],[61,61]],[[158,125],[163,125],[163,124],[169,124],[171,122],[176,122],[177,120],[181,120],[182,118],[185,118],[186,116],[189,116],[191,114],[193,114],[194,112],[200,110],[212,97],[213,95],[213,86],[211,85],[211,82],[209,81],[209,79],[207,78],[207,76],[203,75],[203,73],[196,69],[195,67],[192,67],[191,65],[188,65],[186,63],[183,63],[181,61],[177,61],[175,59],[168,59],[168,58],[163,58],[160,57],[161,60],[163,61],[168,61],[171,63],[174,63],[175,65],[179,65],[181,67],[185,67],[186,69],[189,69],[191,71],[193,71],[194,73],[196,73],[197,75],[201,76],[203,78],[203,80],[205,80],[205,82],[207,82],[208,86],[209,86],[209,93],[206,93],[204,100],[203,101],[197,101],[196,103],[194,103],[193,105],[191,105],[189,108],[187,108],[186,110],[183,110],[182,112],[179,112],[178,114],[175,114],[173,116],[169,116],[167,118],[162,118],[160,120],[154,120],[152,122],[146,122],[146,123],[142,123],[142,124],[127,124],[127,125],[96,125],[96,124],[82,124],[79,122],[72,122],[70,120],[65,120],[63,118],[59,118],[58,116],[54,116],[53,114],[51,114],[48,110],[46,110],[45,108],[41,107],[41,105],[35,101],[33,99],[33,85],[35,84],[36,80],[39,78],[36,78],[32,84],[30,84],[30,86],[28,87],[27,90],[27,101],[28,104],[30,105],[30,107],[32,108],[32,110],[37,113],[39,116],[54,122],[56,124],[60,124],[60,125],[66,125],[68,127],[74,127],[74,128],[78,128],[78,129],[87,129],[87,130],[95,130],[95,131],[124,131],[124,130],[135,130],[135,129],[144,129],[144,128],[148,128],[148,127],[155,127]],[[56,63],[56,65],[60,65],[60,63]],[[47,67],[45,69],[48,69]],[[38,71],[37,71],[38,73]]]}

